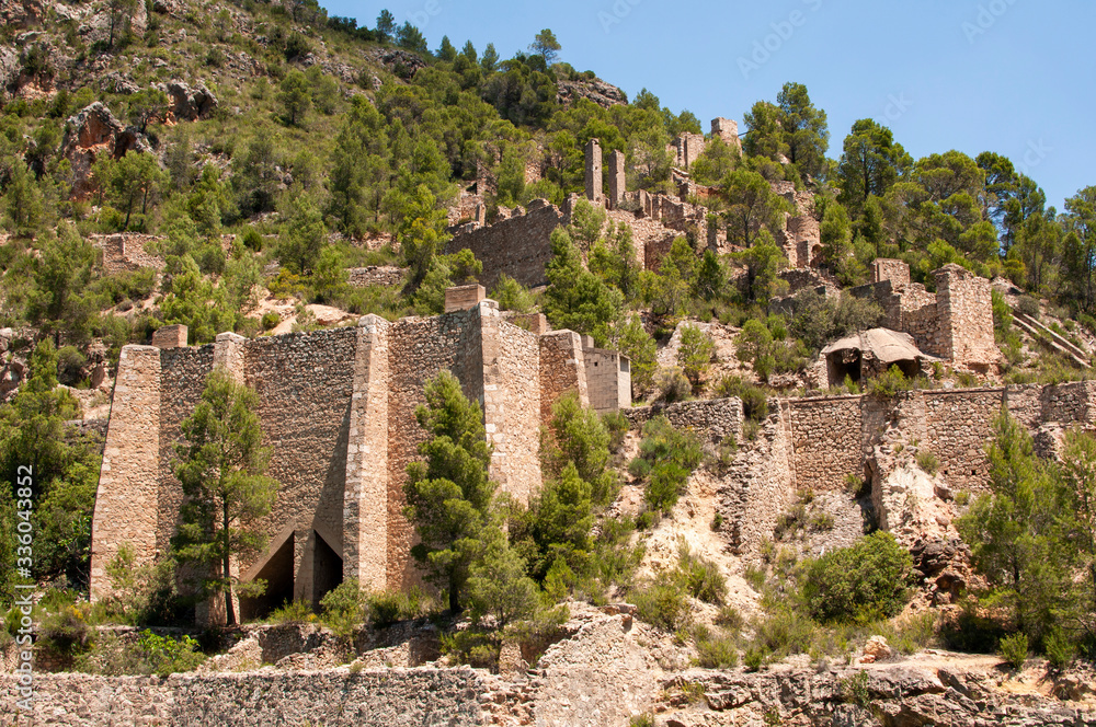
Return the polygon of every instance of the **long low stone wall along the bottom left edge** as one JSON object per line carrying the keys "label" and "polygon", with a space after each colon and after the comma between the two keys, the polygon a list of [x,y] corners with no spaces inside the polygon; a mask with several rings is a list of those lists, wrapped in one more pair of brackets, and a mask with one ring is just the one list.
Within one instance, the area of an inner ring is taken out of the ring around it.
{"label": "long low stone wall along the bottom left edge", "polygon": [[16,678],[0,677],[0,722],[65,725],[419,727],[484,724],[490,691],[471,669],[92,677],[36,673],[33,713],[16,711]]}

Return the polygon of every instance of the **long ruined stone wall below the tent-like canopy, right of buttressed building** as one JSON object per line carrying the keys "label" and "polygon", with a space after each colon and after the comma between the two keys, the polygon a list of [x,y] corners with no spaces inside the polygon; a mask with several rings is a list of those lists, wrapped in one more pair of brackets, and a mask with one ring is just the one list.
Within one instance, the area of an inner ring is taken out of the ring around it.
{"label": "long ruined stone wall below the tent-like canopy, right of buttressed building", "polygon": [[[898,423],[906,441],[936,455],[938,475],[951,491],[983,492],[990,466],[985,447],[993,420],[1008,413],[1032,434],[1041,454],[1051,454],[1072,426],[1096,429],[1096,381],[1058,385],[1019,385],[969,390],[901,392],[893,399],[872,395],[781,399],[769,403],[753,447],[740,450],[719,493],[724,528],[733,552],[756,553],[772,536],[777,519],[809,491],[815,497],[842,497],[850,478],[877,482],[876,451],[889,426]],[[742,403],[738,399],[673,404],[662,409],[625,411],[633,428],[664,414],[680,429],[706,441],[741,438]]]}

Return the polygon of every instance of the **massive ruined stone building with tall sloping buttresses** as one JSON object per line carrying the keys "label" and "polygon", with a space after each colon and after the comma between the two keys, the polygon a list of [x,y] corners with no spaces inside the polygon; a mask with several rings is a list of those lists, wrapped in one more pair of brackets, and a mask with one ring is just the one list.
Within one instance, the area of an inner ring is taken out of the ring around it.
{"label": "massive ruined stone building with tall sloping buttresses", "polygon": [[446,311],[251,341],[225,333],[196,347],[185,326],[170,326],[153,346],[124,347],[92,524],[93,596],[110,591],[105,565],[122,543],[138,563],[168,552],[182,503],[173,446],[215,367],[258,393],[267,474],[282,484],[262,523],[269,547],[239,564],[242,580],[269,582],[262,599],[241,601],[246,618],[289,598],[315,604],[344,578],[377,589],[416,581],[402,484],[424,438],[414,409],[439,370],[481,403],[491,476],[521,500],[540,487],[540,426],[560,395],[601,411],[631,404],[626,357],[570,331],[536,332],[543,322],[507,323],[479,286],[449,289]]}

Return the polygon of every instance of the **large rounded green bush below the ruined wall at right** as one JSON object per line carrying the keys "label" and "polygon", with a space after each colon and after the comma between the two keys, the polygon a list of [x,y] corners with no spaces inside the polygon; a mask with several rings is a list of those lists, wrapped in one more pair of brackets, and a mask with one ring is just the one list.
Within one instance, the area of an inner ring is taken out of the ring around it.
{"label": "large rounded green bush below the ruined wall at right", "polygon": [[890,533],[875,532],[807,562],[800,595],[824,623],[890,618],[905,605],[912,568],[910,553]]}

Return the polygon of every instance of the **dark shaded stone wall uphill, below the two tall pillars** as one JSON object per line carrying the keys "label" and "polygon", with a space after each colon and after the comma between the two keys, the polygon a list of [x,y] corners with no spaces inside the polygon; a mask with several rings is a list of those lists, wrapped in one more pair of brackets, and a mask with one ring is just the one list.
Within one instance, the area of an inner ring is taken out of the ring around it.
{"label": "dark shaded stone wall uphill, below the two tall pillars", "polygon": [[525,215],[456,235],[446,245],[446,253],[466,247],[472,251],[476,259],[483,263],[480,282],[488,290],[494,287],[502,273],[535,288],[548,282],[545,269],[551,258],[551,233],[567,222],[567,216],[559,208],[534,200]]}

